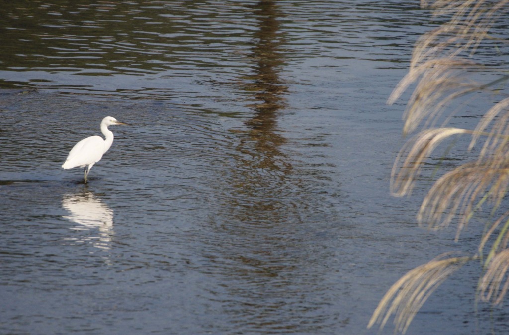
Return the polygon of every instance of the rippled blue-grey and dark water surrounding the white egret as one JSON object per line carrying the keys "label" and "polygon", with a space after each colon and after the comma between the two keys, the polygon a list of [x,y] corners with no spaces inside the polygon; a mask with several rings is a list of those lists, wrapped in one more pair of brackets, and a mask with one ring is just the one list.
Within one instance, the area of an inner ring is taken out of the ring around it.
{"label": "rippled blue-grey and dark water surrounding the white egret", "polygon": [[[0,333],[374,334],[395,280],[475,248],[416,227],[429,185],[388,194],[417,2],[2,6]],[[83,185],[60,165],[107,115]],[[408,333],[506,333],[477,276]]]}

